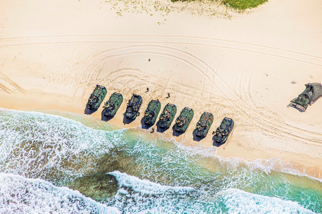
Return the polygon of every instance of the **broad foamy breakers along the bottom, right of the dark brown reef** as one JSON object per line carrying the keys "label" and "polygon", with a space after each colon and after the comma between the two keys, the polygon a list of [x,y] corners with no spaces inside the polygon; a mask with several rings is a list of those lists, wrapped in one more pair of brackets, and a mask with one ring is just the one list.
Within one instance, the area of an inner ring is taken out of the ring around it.
{"label": "broad foamy breakers along the bottom, right of the dark brown reef", "polygon": [[[112,200],[113,206],[127,210],[125,213],[314,213],[293,201],[238,189],[227,189],[212,195],[191,187],[160,185],[119,171],[108,174],[115,176],[119,185]],[[182,194],[184,197],[181,197]]]}

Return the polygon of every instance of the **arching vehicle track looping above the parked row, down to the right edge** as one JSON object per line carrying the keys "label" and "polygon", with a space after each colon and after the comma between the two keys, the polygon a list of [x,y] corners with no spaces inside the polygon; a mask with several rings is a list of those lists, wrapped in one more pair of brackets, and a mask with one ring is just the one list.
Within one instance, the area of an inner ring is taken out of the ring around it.
{"label": "arching vehicle track looping above the parked row, down to the right edge", "polygon": [[[140,48],[144,48],[144,51],[138,51]],[[148,49],[157,49],[157,51],[147,51]],[[127,50],[125,53],[116,54],[118,51],[124,51]],[[132,51],[137,50],[137,51]],[[172,53],[175,52],[175,53]],[[195,57],[194,55],[187,53],[186,51],[181,51],[175,48],[165,47],[165,46],[156,46],[156,45],[131,45],[127,47],[121,47],[116,49],[109,49],[105,51],[99,51],[99,53],[94,54],[94,57],[91,57],[91,63],[94,63],[92,67],[99,67],[102,63],[104,63],[104,60],[102,59],[111,59],[111,58],[118,58],[118,57],[125,57],[130,55],[136,55],[136,54],[149,54],[149,55],[160,55],[160,56],[166,56],[170,58],[175,58],[176,60],[180,60],[185,62],[191,67],[194,67],[198,72],[202,73],[203,76],[216,87],[218,91],[220,91],[223,95],[225,95],[224,91],[218,87],[218,84],[215,84],[213,82],[213,78],[210,77],[210,75],[214,74],[216,78],[220,78],[220,76],[217,75],[217,73],[209,67],[204,61],[200,60],[199,58]],[[182,56],[182,57],[179,57]],[[97,61],[95,63],[95,60]],[[212,73],[209,73],[209,71]],[[212,75],[213,76],[213,75]],[[225,88],[229,88],[232,92],[235,92],[228,84],[226,84],[223,79],[221,79],[221,82],[226,86]],[[249,79],[247,80],[247,87],[249,88]],[[248,89],[249,90],[249,89]],[[250,120],[254,121],[254,125],[261,127],[261,129],[265,130],[266,132],[270,133],[271,135],[277,135],[277,136],[287,136],[288,138],[297,139],[301,141],[308,141],[308,142],[317,142],[321,143],[322,135],[321,133],[311,133],[309,131],[305,131],[302,129],[298,129],[292,126],[289,126],[287,124],[283,124],[282,122],[279,122],[279,118],[271,118],[273,114],[269,112],[268,114],[263,113],[263,109],[256,105],[255,102],[251,100],[250,97],[246,97],[247,100],[244,100],[242,98],[242,94],[249,94],[249,91],[245,91],[245,93],[236,93],[237,97],[239,97],[239,101],[243,106],[246,106],[248,109],[251,109],[253,112],[252,115],[249,115],[247,112],[251,111],[243,111],[244,114],[250,118]],[[251,104],[250,104],[251,103]],[[234,105],[236,108],[238,108],[239,103],[235,103],[232,100],[229,101],[230,105]],[[255,114],[254,114],[255,113]],[[302,133],[301,133],[302,132]],[[303,135],[303,132],[305,134]],[[306,136],[305,138],[299,137],[299,136]]]}

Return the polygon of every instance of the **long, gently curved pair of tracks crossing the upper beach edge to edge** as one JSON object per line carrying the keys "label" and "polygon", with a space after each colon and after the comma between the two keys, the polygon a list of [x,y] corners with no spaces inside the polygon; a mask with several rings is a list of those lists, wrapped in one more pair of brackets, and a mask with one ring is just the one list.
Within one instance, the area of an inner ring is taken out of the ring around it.
{"label": "long, gently curved pair of tracks crossing the upper beach edge to edge", "polygon": [[[150,41],[146,41],[148,40]],[[161,41],[160,41],[161,40]],[[163,40],[163,41],[162,41]],[[171,42],[168,42],[168,41]],[[157,36],[157,35],[69,35],[49,37],[19,37],[0,39],[0,48],[26,45],[50,45],[50,44],[164,44],[164,45],[194,45],[212,48],[229,49],[234,51],[245,51],[253,54],[267,55],[270,57],[292,60],[300,63],[322,67],[322,57],[280,49],[270,46],[263,46],[247,42],[233,40],[192,37],[192,36]]]}

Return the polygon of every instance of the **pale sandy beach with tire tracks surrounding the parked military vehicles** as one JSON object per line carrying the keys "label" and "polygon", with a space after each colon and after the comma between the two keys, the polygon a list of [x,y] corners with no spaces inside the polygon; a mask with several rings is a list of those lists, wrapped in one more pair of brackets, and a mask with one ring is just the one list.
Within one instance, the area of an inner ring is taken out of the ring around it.
{"label": "pale sandy beach with tire tracks surrounding the parked military vehicles", "polygon": [[[144,9],[115,8],[113,1],[4,1],[0,107],[84,113],[99,84],[108,89],[104,102],[114,91],[123,94],[110,120],[121,127],[140,125],[143,114],[122,122],[133,93],[143,98],[140,112],[151,99],[161,109],[175,104],[177,115],[192,108],[188,130],[176,137],[186,145],[212,146],[211,132],[230,117],[236,127],[218,155],[279,157],[322,179],[322,99],[302,113],[287,106],[305,84],[322,82],[322,3],[269,0],[242,14],[216,6],[212,16],[196,3],[161,3],[173,11],[153,10],[149,1],[138,4]],[[196,141],[204,111],[214,122]]]}

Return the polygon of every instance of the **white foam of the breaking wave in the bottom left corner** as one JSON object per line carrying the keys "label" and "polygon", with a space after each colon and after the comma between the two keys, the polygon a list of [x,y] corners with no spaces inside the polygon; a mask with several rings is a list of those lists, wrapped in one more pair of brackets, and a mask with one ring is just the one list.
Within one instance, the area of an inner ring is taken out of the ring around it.
{"label": "white foam of the breaking wave in the bottom left corner", "polygon": [[19,175],[0,173],[0,213],[116,214],[120,212],[67,187],[56,187],[41,179],[26,179]]}

